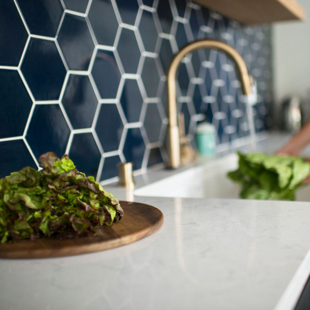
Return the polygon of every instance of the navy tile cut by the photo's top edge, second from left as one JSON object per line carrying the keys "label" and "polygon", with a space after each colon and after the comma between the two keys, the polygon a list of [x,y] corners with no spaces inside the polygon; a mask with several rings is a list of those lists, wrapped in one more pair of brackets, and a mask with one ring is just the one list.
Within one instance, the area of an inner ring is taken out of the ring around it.
{"label": "navy tile cut by the photo's top edge, second from left", "polygon": [[55,37],[62,13],[60,0],[17,0],[30,33]]}

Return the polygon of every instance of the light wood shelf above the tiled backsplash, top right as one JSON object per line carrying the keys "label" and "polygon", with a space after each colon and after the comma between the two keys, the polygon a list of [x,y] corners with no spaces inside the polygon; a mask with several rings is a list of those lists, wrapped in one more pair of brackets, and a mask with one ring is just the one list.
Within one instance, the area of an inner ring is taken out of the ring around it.
{"label": "light wood shelf above the tiled backsplash, top right", "polygon": [[194,0],[241,24],[304,20],[305,11],[295,0]]}

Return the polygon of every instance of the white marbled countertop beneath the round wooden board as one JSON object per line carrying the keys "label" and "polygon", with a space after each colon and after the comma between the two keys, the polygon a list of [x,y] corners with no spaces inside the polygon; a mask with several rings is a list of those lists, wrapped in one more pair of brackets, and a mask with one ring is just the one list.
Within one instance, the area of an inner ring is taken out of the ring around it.
{"label": "white marbled countertop beneath the round wooden board", "polygon": [[309,202],[133,200],[163,212],[157,232],[93,254],[1,259],[0,309],[294,308],[310,270]]}

